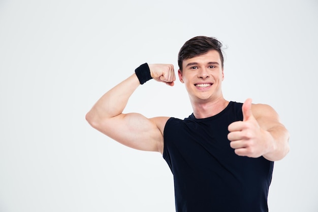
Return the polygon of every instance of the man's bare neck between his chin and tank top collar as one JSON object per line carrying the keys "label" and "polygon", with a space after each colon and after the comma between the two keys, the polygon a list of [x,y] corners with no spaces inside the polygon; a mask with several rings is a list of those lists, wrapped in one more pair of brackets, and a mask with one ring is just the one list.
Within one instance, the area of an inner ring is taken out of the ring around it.
{"label": "man's bare neck between his chin and tank top collar", "polygon": [[214,101],[191,102],[191,104],[193,108],[193,114],[196,118],[207,118],[224,110],[228,106],[229,101],[225,100],[223,97],[220,97]]}

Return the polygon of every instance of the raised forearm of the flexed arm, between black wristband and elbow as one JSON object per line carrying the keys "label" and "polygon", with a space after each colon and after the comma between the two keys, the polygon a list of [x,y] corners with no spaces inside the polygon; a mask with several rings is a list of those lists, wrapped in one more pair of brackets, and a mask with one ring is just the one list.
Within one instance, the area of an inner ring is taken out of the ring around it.
{"label": "raised forearm of the flexed arm, between black wristband and elbow", "polygon": [[104,94],[86,114],[86,120],[89,124],[94,125],[94,122],[98,122],[98,120],[121,114],[139,85],[140,82],[134,73]]}

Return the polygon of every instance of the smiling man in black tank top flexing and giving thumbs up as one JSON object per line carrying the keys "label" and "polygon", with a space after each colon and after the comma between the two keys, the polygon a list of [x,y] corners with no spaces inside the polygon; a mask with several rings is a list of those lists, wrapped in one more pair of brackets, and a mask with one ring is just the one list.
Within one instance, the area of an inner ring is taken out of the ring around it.
{"label": "smiling man in black tank top flexing and giving thumbs up", "polygon": [[178,76],[193,107],[188,118],[122,113],[147,80],[174,85],[172,65],[143,64],[102,96],[86,119],[126,146],[163,154],[174,175],[176,211],[268,211],[273,161],[289,152],[289,133],[270,106],[224,99],[221,46],[200,36],[180,49]]}

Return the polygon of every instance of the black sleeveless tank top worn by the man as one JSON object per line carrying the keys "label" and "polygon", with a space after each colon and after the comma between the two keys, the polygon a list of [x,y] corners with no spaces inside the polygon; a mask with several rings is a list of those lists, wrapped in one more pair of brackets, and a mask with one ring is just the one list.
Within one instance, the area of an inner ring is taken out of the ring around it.
{"label": "black sleeveless tank top worn by the man", "polygon": [[268,211],[274,162],[234,153],[227,136],[237,120],[243,115],[236,102],[212,117],[168,119],[163,157],[174,176],[177,212]]}

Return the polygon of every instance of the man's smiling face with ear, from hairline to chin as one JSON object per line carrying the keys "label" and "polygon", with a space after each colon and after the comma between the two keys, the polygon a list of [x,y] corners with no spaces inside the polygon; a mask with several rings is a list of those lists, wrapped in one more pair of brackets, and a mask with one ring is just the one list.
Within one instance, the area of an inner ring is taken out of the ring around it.
{"label": "man's smiling face with ear, from hairline to chin", "polygon": [[222,96],[224,73],[216,50],[183,60],[182,72],[179,70],[178,75],[192,101],[202,102]]}

